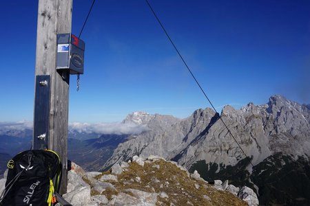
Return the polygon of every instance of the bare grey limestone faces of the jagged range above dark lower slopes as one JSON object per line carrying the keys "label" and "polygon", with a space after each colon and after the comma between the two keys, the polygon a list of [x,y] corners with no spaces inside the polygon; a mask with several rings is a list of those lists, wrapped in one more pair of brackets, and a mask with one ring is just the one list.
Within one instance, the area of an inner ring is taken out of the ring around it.
{"label": "bare grey limestone faces of the jagged range above dark lower slopes", "polygon": [[272,96],[265,105],[223,108],[220,117],[236,141],[211,108],[198,109],[186,119],[146,113],[142,120],[137,113],[132,117],[147,130],[119,144],[105,167],[134,155],[159,155],[187,168],[199,160],[236,165],[245,158],[236,141],[254,165],[276,152],[295,157],[310,155],[309,108],[280,95]]}

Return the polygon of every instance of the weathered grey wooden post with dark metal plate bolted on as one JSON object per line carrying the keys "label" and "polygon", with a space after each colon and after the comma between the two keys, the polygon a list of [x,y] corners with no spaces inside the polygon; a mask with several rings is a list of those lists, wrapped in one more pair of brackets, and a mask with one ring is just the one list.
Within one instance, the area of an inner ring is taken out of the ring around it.
{"label": "weathered grey wooden post with dark metal plate bolted on", "polygon": [[56,70],[56,34],[71,33],[72,0],[39,0],[33,149],[54,150],[63,163],[60,193],[68,183],[68,71]]}

